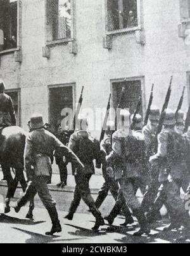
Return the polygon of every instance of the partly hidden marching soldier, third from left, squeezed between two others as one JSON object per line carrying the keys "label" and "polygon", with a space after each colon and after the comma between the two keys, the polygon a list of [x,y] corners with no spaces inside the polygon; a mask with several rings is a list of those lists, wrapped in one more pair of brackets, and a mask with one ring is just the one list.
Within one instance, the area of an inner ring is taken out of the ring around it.
{"label": "partly hidden marching soldier, third from left, squeezed between two others", "polygon": [[[103,170],[103,177],[105,179],[105,183],[103,184],[103,186],[98,192],[98,198],[96,198],[95,205],[97,208],[99,208],[102,205],[106,196],[108,196],[109,190],[115,200],[117,199],[117,196],[118,196],[118,190],[119,190],[118,182],[115,180],[114,176],[111,176],[109,175],[109,173],[106,172],[106,161],[105,161],[106,156],[108,156],[108,154],[110,154],[111,152],[111,128],[113,128],[113,126],[114,126],[113,122],[107,123],[106,135],[108,137],[103,139],[100,144],[100,149],[102,154],[101,159],[103,164],[102,170]],[[124,213],[125,222],[124,224],[121,224],[121,226],[127,226],[127,224],[132,224],[134,220],[132,219],[129,208],[126,205],[125,198],[122,195],[122,193],[120,194],[119,199],[120,200],[118,200],[118,203],[115,204],[115,208],[113,211],[118,214],[120,213],[120,210],[122,210],[122,212]],[[112,215],[110,215],[109,217],[105,217],[105,219],[108,220],[110,225],[113,224],[114,217],[112,217]]]}

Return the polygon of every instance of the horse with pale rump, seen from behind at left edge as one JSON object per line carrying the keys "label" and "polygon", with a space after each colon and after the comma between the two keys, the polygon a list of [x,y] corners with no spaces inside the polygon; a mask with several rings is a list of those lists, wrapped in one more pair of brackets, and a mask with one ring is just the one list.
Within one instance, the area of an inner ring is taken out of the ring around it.
{"label": "horse with pale rump, seen from behind at left edge", "polygon": [[[0,133],[0,163],[4,173],[6,173],[8,192],[5,199],[4,213],[10,212],[9,202],[14,197],[18,182],[22,186],[23,192],[27,189],[27,182],[23,175],[24,170],[24,149],[27,133],[19,126],[8,126]],[[10,168],[15,169],[15,177],[11,176]],[[34,199],[30,201],[27,219],[33,219]]]}

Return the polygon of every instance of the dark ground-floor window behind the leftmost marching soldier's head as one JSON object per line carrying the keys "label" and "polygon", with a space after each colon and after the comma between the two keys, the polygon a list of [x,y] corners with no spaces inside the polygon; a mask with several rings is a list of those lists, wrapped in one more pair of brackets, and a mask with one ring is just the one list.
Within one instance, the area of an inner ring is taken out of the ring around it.
{"label": "dark ground-floor window behind the leftmost marching soldier's head", "polygon": [[49,123],[51,130],[56,133],[64,116],[65,108],[73,109],[73,84],[49,87]]}

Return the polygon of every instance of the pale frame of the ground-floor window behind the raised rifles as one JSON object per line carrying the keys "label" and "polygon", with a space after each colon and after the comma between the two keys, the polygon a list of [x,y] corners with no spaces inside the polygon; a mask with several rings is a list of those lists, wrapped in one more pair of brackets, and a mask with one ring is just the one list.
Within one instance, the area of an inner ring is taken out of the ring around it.
{"label": "pale frame of the ground-floor window behind the raised rifles", "polygon": [[122,83],[122,82],[130,82],[130,81],[141,81],[141,91],[142,91],[142,111],[143,117],[146,113],[146,95],[145,95],[145,77],[144,76],[134,76],[134,77],[122,77],[110,79],[110,91],[111,91],[111,101],[113,104],[113,83]]}

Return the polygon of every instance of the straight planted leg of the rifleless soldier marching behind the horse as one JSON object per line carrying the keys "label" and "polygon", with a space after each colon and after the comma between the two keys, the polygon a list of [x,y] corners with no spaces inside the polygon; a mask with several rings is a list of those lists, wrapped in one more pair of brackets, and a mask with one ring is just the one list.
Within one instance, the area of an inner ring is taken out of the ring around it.
{"label": "straight planted leg of the rifleless soldier marching behind the horse", "polygon": [[51,231],[46,232],[46,234],[53,235],[55,232],[61,232],[60,220],[58,219],[58,212],[56,210],[56,202],[52,199],[51,194],[49,193],[47,179],[45,177],[38,177],[34,181],[34,186],[39,194],[39,198],[46,207],[52,222]]}

